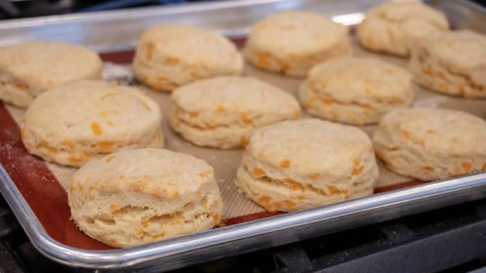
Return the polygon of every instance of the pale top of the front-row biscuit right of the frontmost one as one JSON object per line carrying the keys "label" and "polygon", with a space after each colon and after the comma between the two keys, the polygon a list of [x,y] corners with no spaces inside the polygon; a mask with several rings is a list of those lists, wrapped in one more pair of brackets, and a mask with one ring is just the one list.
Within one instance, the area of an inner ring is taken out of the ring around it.
{"label": "pale top of the front-row biscuit right of the frontmost one", "polygon": [[[356,127],[317,118],[283,121],[256,130],[247,154],[294,177],[347,177],[361,164],[374,164],[371,140]],[[362,170],[362,169],[361,169]],[[323,175],[324,174],[324,175]]]}

